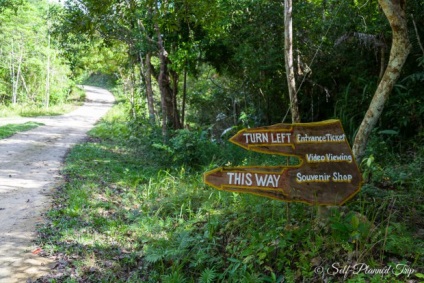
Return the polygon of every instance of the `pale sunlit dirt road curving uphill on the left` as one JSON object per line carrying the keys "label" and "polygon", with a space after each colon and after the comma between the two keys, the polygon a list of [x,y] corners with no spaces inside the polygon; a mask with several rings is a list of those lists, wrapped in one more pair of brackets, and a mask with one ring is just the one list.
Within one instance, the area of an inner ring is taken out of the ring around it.
{"label": "pale sunlit dirt road curving uphill on the left", "polygon": [[35,226],[43,221],[49,195],[61,182],[59,169],[67,151],[114,101],[106,90],[84,89],[87,102],[69,114],[0,119],[0,125],[28,120],[45,124],[0,140],[0,283],[27,282],[50,269],[48,259],[32,254]]}

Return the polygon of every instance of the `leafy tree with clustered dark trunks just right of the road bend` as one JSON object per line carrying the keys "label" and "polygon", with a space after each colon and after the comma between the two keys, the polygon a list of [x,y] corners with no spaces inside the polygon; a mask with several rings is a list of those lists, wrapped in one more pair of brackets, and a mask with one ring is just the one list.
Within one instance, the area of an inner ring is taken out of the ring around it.
{"label": "leafy tree with clustered dark trunks just right of the road bend", "polygon": [[[189,56],[179,56],[179,50],[189,42],[188,34],[193,35],[192,38],[198,36],[200,33],[196,31],[201,29],[195,27],[208,20],[211,14],[208,4],[214,0],[206,2],[68,0],[61,30],[96,34],[109,43],[125,43],[128,62],[139,66],[140,85],[144,88],[152,120],[156,111],[151,78],[158,83],[163,134],[166,135],[166,128],[182,127],[178,107],[179,77],[182,72],[191,70],[187,67],[191,62]],[[160,63],[152,63],[153,58],[159,59]],[[181,60],[185,63],[179,62]]]}

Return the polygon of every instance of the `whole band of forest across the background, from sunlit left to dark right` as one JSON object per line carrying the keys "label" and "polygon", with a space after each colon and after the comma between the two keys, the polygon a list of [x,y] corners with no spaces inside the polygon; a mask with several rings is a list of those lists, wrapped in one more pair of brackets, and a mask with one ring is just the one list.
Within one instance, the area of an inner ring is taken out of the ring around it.
{"label": "whole band of forest across the background, from sunlit left to dark right", "polygon": [[[377,1],[293,5],[301,120],[339,118],[352,139],[388,61],[388,21]],[[66,87],[54,89],[64,85],[60,80],[104,73],[131,86],[132,101],[143,101],[134,104],[134,117],[148,111],[163,122],[164,134],[186,125],[214,125],[218,135],[239,124],[290,121],[281,1],[3,1],[0,7],[2,103],[46,103],[46,93],[60,100],[66,95]],[[407,3],[412,50],[380,123],[406,136],[422,129],[422,8],[421,1]]]}

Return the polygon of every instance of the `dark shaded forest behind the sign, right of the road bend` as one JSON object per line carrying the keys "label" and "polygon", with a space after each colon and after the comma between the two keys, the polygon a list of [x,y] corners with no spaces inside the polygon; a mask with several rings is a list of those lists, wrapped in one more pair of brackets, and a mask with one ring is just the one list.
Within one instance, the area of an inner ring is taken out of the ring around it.
{"label": "dark shaded forest behind the sign, right of the road bend", "polygon": [[[402,102],[420,99],[422,5],[408,2],[412,51],[381,119],[407,135],[422,127],[423,110]],[[56,33],[66,46],[89,37],[125,48],[123,65],[114,64],[121,71],[110,71],[136,81],[135,95],[163,125],[205,127],[220,117],[220,131],[290,121],[283,10],[281,1],[66,1]],[[352,137],[388,61],[387,19],[377,1],[302,1],[293,19],[301,120],[339,118]]]}

